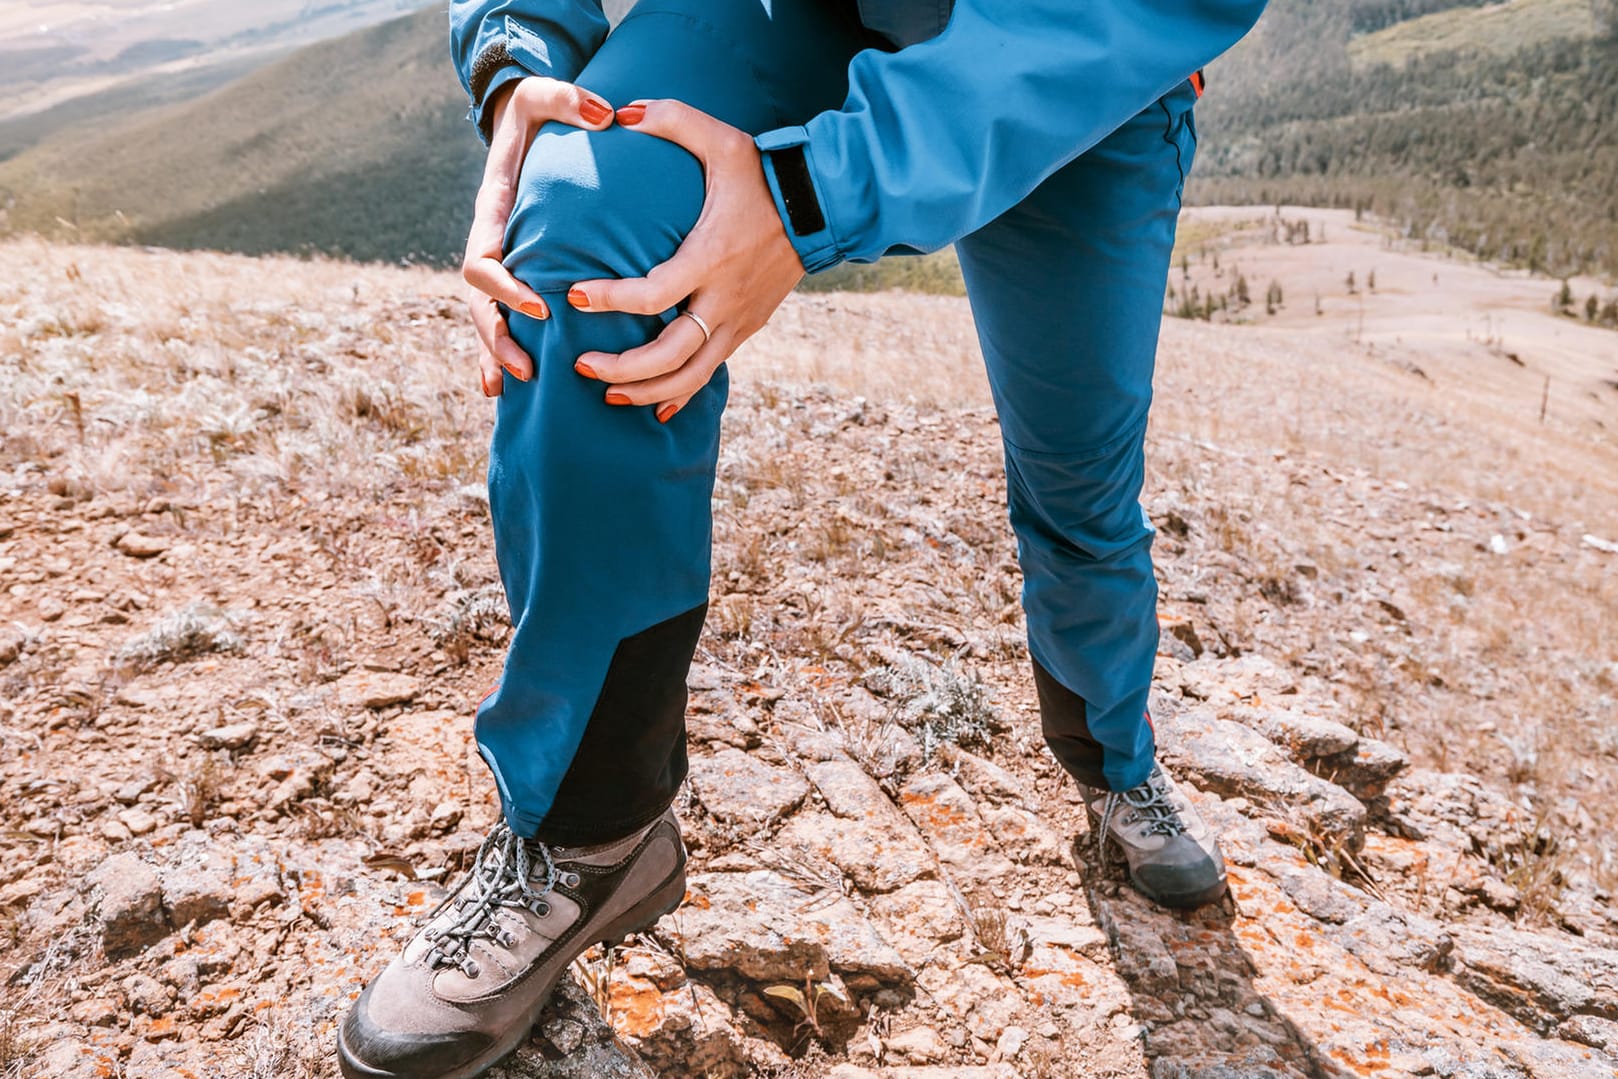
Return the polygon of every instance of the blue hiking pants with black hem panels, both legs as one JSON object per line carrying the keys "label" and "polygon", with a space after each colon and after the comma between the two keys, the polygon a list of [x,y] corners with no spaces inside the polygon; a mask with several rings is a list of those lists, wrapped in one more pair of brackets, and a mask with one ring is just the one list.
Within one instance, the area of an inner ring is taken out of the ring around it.
{"label": "blue hiking pants with black hem panels, both legs", "polygon": [[[869,47],[890,45],[851,2],[642,0],[578,83],[759,133],[838,107]],[[1170,92],[958,244],[1002,417],[1045,736],[1076,778],[1113,789],[1154,757],[1142,440],[1194,99],[1189,83]],[[565,293],[665,260],[702,197],[678,146],[549,125],[506,233],[506,265],[552,317],[510,314],[536,362],[531,382],[505,382],[489,463],[515,636],[476,734],[511,827],[549,843],[633,831],[686,775],[726,374],[668,424],[608,406],[574,359],[642,345],[675,312],[581,312]]]}

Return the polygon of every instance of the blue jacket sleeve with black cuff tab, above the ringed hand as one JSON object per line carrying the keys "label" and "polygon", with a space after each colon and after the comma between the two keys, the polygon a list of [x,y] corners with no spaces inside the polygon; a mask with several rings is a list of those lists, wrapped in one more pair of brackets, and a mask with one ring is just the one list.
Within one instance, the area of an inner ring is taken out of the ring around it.
{"label": "blue jacket sleeve with black cuff tab, above the ringed hand", "polygon": [[1230,49],[1265,0],[958,0],[849,63],[848,100],[757,138],[809,272],[934,251],[1016,205]]}

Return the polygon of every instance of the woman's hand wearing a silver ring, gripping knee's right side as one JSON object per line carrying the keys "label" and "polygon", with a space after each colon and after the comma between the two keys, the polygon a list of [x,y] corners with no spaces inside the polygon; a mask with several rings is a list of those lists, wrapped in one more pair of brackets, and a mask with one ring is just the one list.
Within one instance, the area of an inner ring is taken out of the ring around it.
{"label": "woman's hand wearing a silver ring, gripping knee's right side", "polygon": [[568,303],[650,315],[686,301],[684,311],[701,322],[678,317],[626,353],[584,353],[576,370],[612,383],[608,404],[654,404],[657,419],[668,422],[770,320],[804,267],[752,136],[675,100],[625,105],[618,123],[676,142],[702,162],[702,215],[668,262],[641,278],[579,281]]}

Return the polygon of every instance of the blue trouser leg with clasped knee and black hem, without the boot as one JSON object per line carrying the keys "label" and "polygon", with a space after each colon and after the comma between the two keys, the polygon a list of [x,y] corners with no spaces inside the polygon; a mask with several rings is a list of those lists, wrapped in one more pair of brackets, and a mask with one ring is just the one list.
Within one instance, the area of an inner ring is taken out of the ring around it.
{"label": "blue trouser leg with clasped knee and black hem, without the boot", "polygon": [[[578,81],[615,105],[676,97],[764,131],[837,107],[862,44],[851,2],[642,0]],[[673,312],[589,314],[565,293],[646,273],[701,209],[696,159],[618,126],[550,125],[523,170],[506,265],[552,317],[511,314],[536,374],[505,380],[489,500],[516,633],[477,712],[477,744],[524,836],[626,835],[684,780],[684,679],[707,603],[726,375],[668,424],[605,404],[607,387],[574,359],[644,345]]]}

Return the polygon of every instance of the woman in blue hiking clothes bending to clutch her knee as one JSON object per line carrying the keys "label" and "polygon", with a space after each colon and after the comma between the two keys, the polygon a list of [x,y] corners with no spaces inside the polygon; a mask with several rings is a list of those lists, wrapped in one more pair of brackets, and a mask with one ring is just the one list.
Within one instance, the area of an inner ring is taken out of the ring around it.
{"label": "woman in blue hiking clothes bending to clutch her knee", "polygon": [[490,141],[466,277],[516,628],[477,713],[503,820],[349,1011],[345,1074],[481,1074],[579,951],[680,903],[722,364],[845,259],[956,244],[1047,743],[1137,888],[1223,895],[1154,760],[1139,492],[1199,70],[1262,6],[642,0],[608,37],[591,0],[450,5]]}

